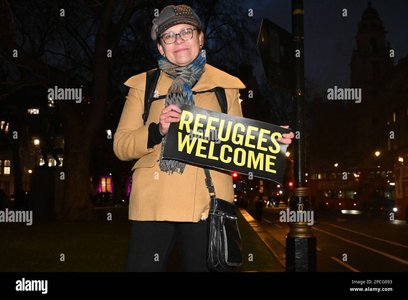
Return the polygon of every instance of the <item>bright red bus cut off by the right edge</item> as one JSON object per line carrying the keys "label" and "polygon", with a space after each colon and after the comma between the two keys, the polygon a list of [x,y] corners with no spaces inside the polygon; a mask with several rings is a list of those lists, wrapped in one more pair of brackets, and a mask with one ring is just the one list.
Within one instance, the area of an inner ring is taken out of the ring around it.
{"label": "bright red bus cut off by the right edge", "polygon": [[408,223],[408,148],[395,159],[395,218]]}

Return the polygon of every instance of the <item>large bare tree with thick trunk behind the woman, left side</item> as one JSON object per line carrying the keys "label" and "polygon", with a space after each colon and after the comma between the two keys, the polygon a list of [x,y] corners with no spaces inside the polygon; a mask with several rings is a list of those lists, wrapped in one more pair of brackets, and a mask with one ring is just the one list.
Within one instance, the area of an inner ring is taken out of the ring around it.
{"label": "large bare tree with thick trunk behind the woman, left side", "polygon": [[[208,61],[237,65],[255,53],[251,47],[241,47],[253,36],[245,26],[246,10],[236,1],[185,4],[191,4],[203,21]],[[165,1],[135,0],[1,0],[1,55],[13,66],[1,83],[8,85],[9,94],[22,84],[89,87],[89,104],[55,99],[65,139],[61,218],[95,218],[89,199],[91,149],[104,130],[106,111],[118,100],[124,101],[120,84],[157,62],[151,20],[166,5]],[[27,78],[31,80],[25,82]]]}

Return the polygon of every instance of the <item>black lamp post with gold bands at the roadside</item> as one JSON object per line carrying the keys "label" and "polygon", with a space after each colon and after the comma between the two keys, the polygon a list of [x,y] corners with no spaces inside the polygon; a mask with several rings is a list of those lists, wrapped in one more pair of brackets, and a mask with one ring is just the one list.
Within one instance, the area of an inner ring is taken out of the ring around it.
{"label": "black lamp post with gold bands at the roadside", "polygon": [[[293,96],[293,131],[300,138],[294,140],[294,187],[290,190],[290,211],[310,211],[309,189],[305,182],[305,130],[304,130],[304,35],[303,0],[292,0],[292,33],[295,38],[295,93]],[[312,216],[312,215],[310,215]],[[317,271],[316,238],[306,222],[288,222],[286,237],[286,271]]]}

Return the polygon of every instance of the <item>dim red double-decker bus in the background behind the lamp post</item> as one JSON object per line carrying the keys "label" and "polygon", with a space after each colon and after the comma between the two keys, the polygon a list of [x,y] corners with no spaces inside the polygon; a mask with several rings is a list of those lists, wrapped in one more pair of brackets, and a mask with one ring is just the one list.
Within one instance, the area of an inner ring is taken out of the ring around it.
{"label": "dim red double-decker bus in the background behind the lamp post", "polygon": [[[345,173],[344,173],[345,172]],[[330,169],[308,174],[310,202],[320,210],[361,213],[375,195],[394,199],[394,172],[381,168]]]}

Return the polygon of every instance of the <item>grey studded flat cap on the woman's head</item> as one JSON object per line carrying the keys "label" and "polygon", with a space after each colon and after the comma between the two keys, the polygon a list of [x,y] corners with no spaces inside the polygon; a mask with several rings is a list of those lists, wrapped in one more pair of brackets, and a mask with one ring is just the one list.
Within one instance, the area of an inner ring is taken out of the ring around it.
{"label": "grey studded flat cap on the woman's head", "polygon": [[201,29],[201,21],[193,9],[187,5],[169,5],[153,19],[151,30],[152,40],[156,40],[160,34],[177,24],[190,24]]}

